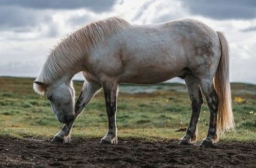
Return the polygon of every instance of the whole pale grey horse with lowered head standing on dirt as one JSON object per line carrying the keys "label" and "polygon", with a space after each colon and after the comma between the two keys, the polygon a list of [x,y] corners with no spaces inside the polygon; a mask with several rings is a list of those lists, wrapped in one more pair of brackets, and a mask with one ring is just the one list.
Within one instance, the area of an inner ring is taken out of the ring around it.
{"label": "whole pale grey horse with lowered head standing on dirt", "polygon": [[[84,81],[75,103],[72,77]],[[117,144],[116,109],[119,83],[153,84],[179,76],[185,80],[192,115],[180,144],[197,140],[204,94],[210,121],[201,146],[218,141],[218,133],[234,127],[229,83],[228,44],[224,35],[194,19],[135,25],[121,18],[88,24],[62,40],[50,53],[34,82],[46,95],[61,123],[52,142],[70,142],[76,118],[103,88],[109,129],[101,143]]]}

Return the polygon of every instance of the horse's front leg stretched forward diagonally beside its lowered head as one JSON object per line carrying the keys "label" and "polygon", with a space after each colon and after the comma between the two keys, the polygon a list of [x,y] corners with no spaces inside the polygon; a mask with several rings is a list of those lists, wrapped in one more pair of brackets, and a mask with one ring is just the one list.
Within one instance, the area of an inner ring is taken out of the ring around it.
{"label": "horse's front leg stretched forward diagonally beside its lowered head", "polygon": [[75,104],[75,118],[66,123],[62,129],[53,137],[52,143],[70,143],[71,142],[71,130],[76,118],[79,116],[84,106],[86,106],[93,98],[95,93],[101,88],[98,83],[84,81],[83,88]]}

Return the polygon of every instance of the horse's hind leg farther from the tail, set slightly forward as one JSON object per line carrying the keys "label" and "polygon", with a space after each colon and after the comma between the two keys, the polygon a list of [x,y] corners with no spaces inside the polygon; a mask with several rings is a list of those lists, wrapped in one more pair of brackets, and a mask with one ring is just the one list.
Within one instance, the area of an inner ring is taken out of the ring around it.
{"label": "horse's hind leg farther from the tail, set slightly forward", "polygon": [[200,115],[201,106],[203,103],[201,90],[199,88],[199,81],[193,75],[185,77],[189,97],[191,100],[192,115],[186,134],[182,137],[179,144],[188,145],[196,143],[197,141],[197,122]]}

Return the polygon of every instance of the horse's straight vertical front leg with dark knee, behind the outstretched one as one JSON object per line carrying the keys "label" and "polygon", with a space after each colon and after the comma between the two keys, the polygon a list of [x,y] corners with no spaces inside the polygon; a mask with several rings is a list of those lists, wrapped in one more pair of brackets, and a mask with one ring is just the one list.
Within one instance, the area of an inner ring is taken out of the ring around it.
{"label": "horse's straight vertical front leg with dark knee, behind the outstretched one", "polygon": [[109,120],[109,130],[101,139],[100,143],[117,144],[116,100],[118,83],[107,81],[103,82],[102,87],[106,102],[106,113],[108,114]]}

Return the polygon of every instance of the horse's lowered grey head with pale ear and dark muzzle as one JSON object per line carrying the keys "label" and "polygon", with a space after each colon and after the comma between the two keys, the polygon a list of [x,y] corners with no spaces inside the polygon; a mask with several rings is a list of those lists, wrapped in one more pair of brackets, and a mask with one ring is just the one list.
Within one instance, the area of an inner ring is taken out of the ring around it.
{"label": "horse's lowered grey head with pale ear and dark muzzle", "polygon": [[39,94],[46,95],[59,122],[69,123],[74,119],[75,91],[72,82],[57,81],[47,85],[44,82],[35,81],[34,90]]}

